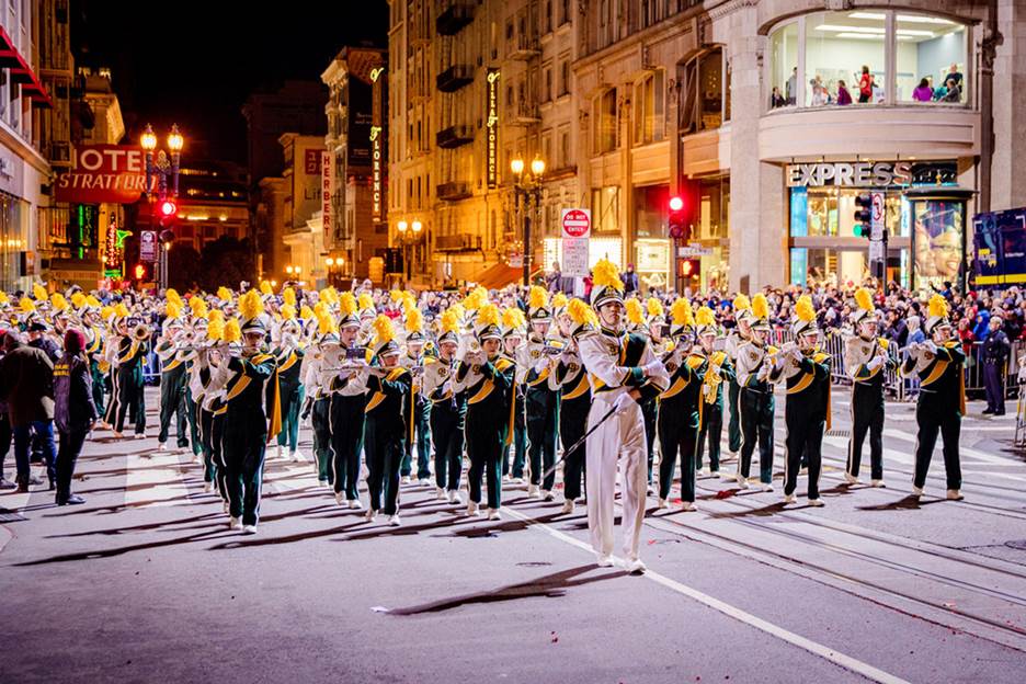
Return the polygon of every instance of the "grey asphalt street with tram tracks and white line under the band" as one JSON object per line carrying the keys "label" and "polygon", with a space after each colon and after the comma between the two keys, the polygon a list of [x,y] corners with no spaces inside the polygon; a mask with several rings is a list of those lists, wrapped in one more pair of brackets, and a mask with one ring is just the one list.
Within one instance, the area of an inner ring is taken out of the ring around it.
{"label": "grey asphalt street with tram tracks and white line under the band", "polygon": [[[836,388],[825,508],[700,478],[697,513],[650,498],[645,575],[595,566],[583,506],[561,516],[506,485],[487,522],[413,483],[390,527],[282,460],[242,536],[187,455],[96,433],[84,505],[56,508],[45,486],[0,497],[0,682],[1026,681],[1014,417],[971,403],[966,500],[943,499],[938,448],[916,502],[912,404],[888,406],[888,487],[842,485],[846,399]],[[152,390],[147,404],[153,434]]]}

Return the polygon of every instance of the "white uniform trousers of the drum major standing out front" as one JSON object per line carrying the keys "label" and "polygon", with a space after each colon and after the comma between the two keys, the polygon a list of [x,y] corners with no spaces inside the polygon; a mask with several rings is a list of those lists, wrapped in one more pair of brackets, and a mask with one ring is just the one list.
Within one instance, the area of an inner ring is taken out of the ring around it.
{"label": "white uniform trousers of the drum major standing out front", "polygon": [[[613,408],[618,391],[597,392],[588,414],[591,430]],[[620,465],[624,515],[624,556],[638,558],[648,463],[645,420],[637,402],[609,417],[588,437],[588,531],[592,548],[601,556],[613,555],[613,504],[616,493],[616,467]]]}

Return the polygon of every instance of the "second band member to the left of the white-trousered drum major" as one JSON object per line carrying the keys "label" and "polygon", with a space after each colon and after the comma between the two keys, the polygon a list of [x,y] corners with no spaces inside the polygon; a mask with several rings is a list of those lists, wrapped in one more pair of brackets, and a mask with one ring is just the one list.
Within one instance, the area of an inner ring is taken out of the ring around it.
{"label": "second band member to the left of the white-trousered drum major", "polygon": [[517,381],[527,387],[527,458],[531,464],[527,495],[552,501],[556,474],[549,474],[544,481],[542,475],[556,463],[559,394],[550,383],[554,357],[549,350],[559,343],[549,337],[552,315],[548,308],[548,293],[544,287],[532,285],[527,299],[531,331],[527,344],[522,345],[515,356]]}

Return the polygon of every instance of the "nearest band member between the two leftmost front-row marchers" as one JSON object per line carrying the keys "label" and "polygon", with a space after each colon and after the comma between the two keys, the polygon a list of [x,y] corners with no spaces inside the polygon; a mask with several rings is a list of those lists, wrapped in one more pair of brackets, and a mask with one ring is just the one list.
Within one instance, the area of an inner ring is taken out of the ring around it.
{"label": "nearest band member between the two leftmost front-row marchers", "polygon": [[[361,298],[363,297],[364,295],[361,295]],[[367,298],[369,299],[369,295]],[[329,407],[333,463],[331,482],[335,501],[342,505],[344,500],[353,510],[363,508],[356,493],[356,486],[360,480],[360,452],[364,446],[367,398],[366,388],[360,383],[350,381],[350,375],[339,375],[338,366],[343,365],[346,360],[366,361],[366,347],[357,344],[357,338],[361,335],[361,322],[356,317],[357,306],[353,293],[346,292],[340,295],[339,346],[335,354],[327,356],[323,361],[327,367],[321,376],[321,386],[331,394]]]}

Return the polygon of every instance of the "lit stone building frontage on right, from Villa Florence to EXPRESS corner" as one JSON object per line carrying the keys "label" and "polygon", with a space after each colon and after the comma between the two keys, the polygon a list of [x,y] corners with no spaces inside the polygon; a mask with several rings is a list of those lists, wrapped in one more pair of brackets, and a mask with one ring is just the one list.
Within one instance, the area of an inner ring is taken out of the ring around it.
{"label": "lit stone building frontage on right, from Villa Florence to EXPRESS corner", "polygon": [[858,283],[866,192],[882,197],[888,278],[954,281],[971,244],[958,203],[909,191],[973,191],[967,216],[1026,204],[1023,0],[390,5],[389,230],[424,221],[436,283],[515,262],[514,157],[546,161],[535,264],[559,259],[559,209],[584,207],[591,261],[651,287]]}

